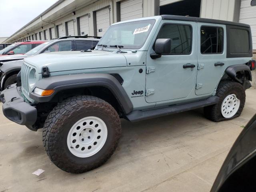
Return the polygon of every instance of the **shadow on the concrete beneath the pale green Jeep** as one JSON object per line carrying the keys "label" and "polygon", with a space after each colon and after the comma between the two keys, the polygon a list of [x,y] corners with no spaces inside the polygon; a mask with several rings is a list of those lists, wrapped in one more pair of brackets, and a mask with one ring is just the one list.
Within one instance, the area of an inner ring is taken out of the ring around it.
{"label": "shadow on the concrete beneath the pale green Jeep", "polygon": [[[141,158],[139,155],[140,152],[148,153],[152,150],[152,146],[162,147],[162,144],[167,145],[172,143],[172,139],[178,142],[176,140],[179,137],[190,134],[194,129],[204,129],[212,124],[215,123],[206,120],[200,109],[134,123],[122,120],[122,136],[112,158],[99,168],[82,175],[86,176],[87,174],[95,174],[117,168],[128,162],[131,157]],[[19,167],[30,163],[31,166],[37,168],[49,169],[50,172],[54,172],[56,175],[70,175],[54,166],[48,158],[42,143],[42,129],[37,132],[29,131],[27,133],[22,139],[25,142],[21,143],[24,150],[13,158],[12,163],[18,164],[17,166]],[[28,142],[29,138],[33,138],[33,140]],[[120,162],[120,159],[125,158],[127,160]],[[72,175],[75,177],[78,176],[77,174]]]}

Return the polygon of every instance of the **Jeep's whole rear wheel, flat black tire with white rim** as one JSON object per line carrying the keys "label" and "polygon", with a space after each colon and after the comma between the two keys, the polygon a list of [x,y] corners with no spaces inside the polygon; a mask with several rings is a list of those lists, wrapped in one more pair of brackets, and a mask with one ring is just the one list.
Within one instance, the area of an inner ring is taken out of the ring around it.
{"label": "Jeep's whole rear wheel, flat black tire with white rim", "polygon": [[216,96],[219,102],[204,108],[206,118],[219,122],[240,116],[245,103],[244,87],[238,82],[222,81],[218,85]]}

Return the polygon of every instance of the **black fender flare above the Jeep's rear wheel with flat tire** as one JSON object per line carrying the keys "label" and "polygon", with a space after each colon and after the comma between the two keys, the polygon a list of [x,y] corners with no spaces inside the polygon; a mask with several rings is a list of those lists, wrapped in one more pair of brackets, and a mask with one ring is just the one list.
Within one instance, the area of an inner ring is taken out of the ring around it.
{"label": "black fender flare above the Jeep's rear wheel with flat tire", "polygon": [[243,81],[239,80],[236,77],[236,73],[239,71],[244,71],[246,73],[246,80],[252,81],[252,73],[250,70],[250,67],[246,64],[239,64],[239,65],[231,65],[228,68],[226,68],[225,72],[226,74],[234,81],[243,83]]}

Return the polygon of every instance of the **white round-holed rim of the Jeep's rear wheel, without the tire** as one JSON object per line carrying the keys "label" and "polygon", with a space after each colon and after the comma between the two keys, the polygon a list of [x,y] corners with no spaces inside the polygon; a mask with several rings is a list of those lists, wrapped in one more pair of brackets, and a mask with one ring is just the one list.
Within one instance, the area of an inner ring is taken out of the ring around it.
{"label": "white round-holed rim of the Jeep's rear wheel, without the tire", "polygon": [[231,118],[236,114],[240,106],[240,100],[235,94],[226,96],[221,105],[221,114],[224,118]]}

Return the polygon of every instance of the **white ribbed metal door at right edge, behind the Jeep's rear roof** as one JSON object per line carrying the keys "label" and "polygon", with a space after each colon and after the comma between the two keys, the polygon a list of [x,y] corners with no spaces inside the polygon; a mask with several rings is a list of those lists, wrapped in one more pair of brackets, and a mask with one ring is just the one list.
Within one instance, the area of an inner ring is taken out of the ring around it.
{"label": "white ribbed metal door at right edge, behind the Jeep's rear roof", "polygon": [[252,30],[252,47],[256,49],[256,6],[250,5],[251,0],[242,0],[240,7],[240,23],[246,23]]}

